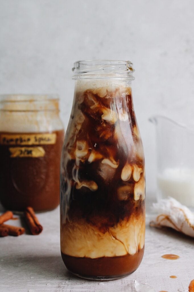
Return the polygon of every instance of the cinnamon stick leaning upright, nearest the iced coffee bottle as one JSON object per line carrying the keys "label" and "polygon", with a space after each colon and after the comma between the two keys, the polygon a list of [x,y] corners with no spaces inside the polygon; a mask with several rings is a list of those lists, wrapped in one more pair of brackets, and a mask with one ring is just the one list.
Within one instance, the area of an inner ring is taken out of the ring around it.
{"label": "cinnamon stick leaning upright, nearest the iced coffee bottle", "polygon": [[40,222],[38,221],[38,218],[36,217],[33,208],[27,207],[24,213],[31,234],[40,234],[40,232],[42,232],[43,230],[43,227],[42,225],[40,225]]}

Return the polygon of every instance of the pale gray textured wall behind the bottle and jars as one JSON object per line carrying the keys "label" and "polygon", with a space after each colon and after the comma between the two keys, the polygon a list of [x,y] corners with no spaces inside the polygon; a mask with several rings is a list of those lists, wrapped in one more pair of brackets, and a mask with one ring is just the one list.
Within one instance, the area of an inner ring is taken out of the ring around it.
{"label": "pale gray textured wall behind the bottle and jars", "polygon": [[0,93],[59,93],[67,127],[75,60],[131,60],[133,97],[155,191],[153,114],[193,119],[194,1],[0,0]]}

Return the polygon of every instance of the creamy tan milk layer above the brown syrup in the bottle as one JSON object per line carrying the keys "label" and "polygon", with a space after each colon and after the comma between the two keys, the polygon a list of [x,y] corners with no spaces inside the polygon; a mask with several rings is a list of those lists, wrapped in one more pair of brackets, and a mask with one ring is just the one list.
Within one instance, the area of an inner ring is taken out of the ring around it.
{"label": "creamy tan milk layer above the brown syrup in the bottle", "polygon": [[67,221],[61,228],[61,251],[68,256],[87,258],[133,255],[143,248],[144,237],[144,214],[132,215],[105,233],[84,219]]}

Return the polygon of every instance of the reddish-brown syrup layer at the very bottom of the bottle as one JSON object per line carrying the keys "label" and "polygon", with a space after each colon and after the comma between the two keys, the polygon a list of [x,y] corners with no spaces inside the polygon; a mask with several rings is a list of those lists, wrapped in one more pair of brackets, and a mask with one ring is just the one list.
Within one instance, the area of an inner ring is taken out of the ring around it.
{"label": "reddish-brown syrup layer at the very bottom of the bottle", "polygon": [[144,248],[134,255],[103,257],[103,258],[77,258],[67,256],[61,252],[62,259],[67,269],[80,277],[124,277],[133,273],[140,265]]}

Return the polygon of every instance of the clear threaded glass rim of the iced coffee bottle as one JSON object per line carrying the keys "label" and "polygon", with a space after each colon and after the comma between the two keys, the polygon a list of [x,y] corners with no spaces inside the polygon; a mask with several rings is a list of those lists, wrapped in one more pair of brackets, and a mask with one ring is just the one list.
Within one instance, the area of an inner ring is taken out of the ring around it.
{"label": "clear threaded glass rim of the iced coffee bottle", "polygon": [[73,79],[129,79],[134,80],[133,63],[119,60],[80,60],[72,68]]}

